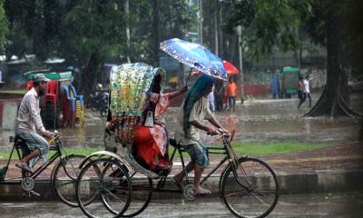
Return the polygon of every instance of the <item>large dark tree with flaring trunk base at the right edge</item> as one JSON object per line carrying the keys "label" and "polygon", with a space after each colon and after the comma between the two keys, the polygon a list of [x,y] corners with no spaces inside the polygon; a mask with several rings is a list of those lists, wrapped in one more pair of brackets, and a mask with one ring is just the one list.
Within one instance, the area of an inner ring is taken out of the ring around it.
{"label": "large dark tree with flaring trunk base at the right edge", "polygon": [[[329,115],[362,116],[349,107],[348,74],[344,67],[343,51],[348,41],[357,39],[348,30],[348,15],[359,1],[315,1],[311,3],[312,15],[306,21],[312,40],[327,47],[327,84],[322,94],[305,116]],[[358,37],[361,37],[359,35]]]}

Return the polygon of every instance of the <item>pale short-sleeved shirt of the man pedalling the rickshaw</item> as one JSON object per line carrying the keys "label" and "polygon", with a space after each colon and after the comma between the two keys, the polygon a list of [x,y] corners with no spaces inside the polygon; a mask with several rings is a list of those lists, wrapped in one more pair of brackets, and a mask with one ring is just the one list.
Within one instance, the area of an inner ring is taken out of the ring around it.
{"label": "pale short-sleeved shirt of the man pedalling the rickshaw", "polygon": [[[183,130],[184,103],[185,102],[182,103],[181,113],[179,113],[178,116],[178,124],[176,126],[175,135],[174,135],[175,140],[177,143],[184,145],[196,144],[196,143],[201,144],[201,139],[199,135],[200,130],[192,124],[190,125],[189,128],[189,133],[188,133],[189,138],[185,137],[185,133]],[[212,114],[208,105],[209,105],[208,98],[201,97],[201,99],[198,102],[196,102],[191,108],[191,115],[189,116],[189,121],[201,122],[202,120],[207,120],[211,118]]]}

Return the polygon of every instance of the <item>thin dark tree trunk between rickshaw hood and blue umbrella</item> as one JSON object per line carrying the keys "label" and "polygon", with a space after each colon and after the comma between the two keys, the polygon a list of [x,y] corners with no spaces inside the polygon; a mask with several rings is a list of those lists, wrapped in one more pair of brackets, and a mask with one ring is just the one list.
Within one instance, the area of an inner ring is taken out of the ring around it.
{"label": "thin dark tree trunk between rickshaw hood and blue umbrella", "polygon": [[159,0],[152,0],[152,60],[154,66],[159,66],[159,25],[160,25]]}

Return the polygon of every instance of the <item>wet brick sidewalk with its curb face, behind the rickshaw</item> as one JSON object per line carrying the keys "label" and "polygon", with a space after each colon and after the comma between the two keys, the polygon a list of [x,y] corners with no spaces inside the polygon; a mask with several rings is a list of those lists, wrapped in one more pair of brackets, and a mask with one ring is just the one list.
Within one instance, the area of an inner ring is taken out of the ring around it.
{"label": "wet brick sidewalk with its curb face, behind the rickshaw", "polygon": [[[270,154],[258,156],[269,163],[278,175],[280,193],[312,193],[363,190],[363,142],[339,144],[290,154]],[[211,167],[218,164],[221,157],[211,157]],[[0,161],[4,165],[5,161]],[[222,166],[203,186],[218,193]],[[51,191],[49,167],[35,183],[34,191],[42,194],[36,200],[56,200]],[[179,160],[174,162],[172,174],[181,170]],[[204,173],[209,173],[207,169]],[[19,176],[14,162],[10,165],[8,176]],[[191,173],[192,176],[192,173]],[[156,183],[156,181],[154,182]],[[170,181],[168,182],[170,183]],[[21,200],[20,185],[0,185],[0,201]]]}

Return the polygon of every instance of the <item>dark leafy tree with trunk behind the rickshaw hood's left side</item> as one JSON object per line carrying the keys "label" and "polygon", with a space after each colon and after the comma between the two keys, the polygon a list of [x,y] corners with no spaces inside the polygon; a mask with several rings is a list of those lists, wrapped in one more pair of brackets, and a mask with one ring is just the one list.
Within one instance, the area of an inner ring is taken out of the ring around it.
{"label": "dark leafy tree with trunk behind the rickshaw hood's left side", "polygon": [[82,0],[65,18],[72,33],[70,45],[83,62],[83,94],[90,94],[104,62],[120,60],[126,54],[123,4],[117,0]]}

